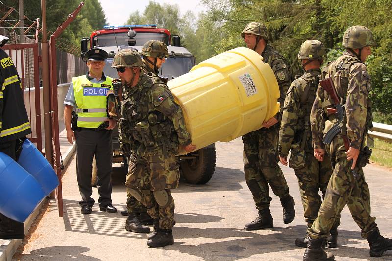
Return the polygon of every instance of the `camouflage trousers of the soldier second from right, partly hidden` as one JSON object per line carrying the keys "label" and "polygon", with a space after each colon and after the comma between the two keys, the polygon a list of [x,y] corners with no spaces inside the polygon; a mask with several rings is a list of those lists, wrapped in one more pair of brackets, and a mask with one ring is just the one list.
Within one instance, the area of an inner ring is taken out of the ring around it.
{"label": "camouflage trousers of the soldier second from right, partly hidden", "polygon": [[[323,161],[318,161],[313,156],[313,153],[305,153],[306,165],[303,168],[294,169],[294,172],[298,178],[299,193],[304,211],[303,215],[309,228],[319,213],[321,206],[319,191],[322,192],[322,199],[324,199],[328,181],[332,175],[332,167],[328,156],[325,156]],[[334,227],[338,227],[339,224],[340,217],[337,218]]]}

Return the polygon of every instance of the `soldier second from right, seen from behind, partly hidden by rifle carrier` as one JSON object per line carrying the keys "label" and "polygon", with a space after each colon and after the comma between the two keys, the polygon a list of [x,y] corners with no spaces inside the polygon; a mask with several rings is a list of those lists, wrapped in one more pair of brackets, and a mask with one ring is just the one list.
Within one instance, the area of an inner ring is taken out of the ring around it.
{"label": "soldier second from right, seen from behind, partly hidden by rifle carrier", "polygon": [[[279,131],[279,158],[287,166],[290,150],[289,167],[295,170],[298,178],[305,221],[308,228],[317,218],[321,206],[321,190],[324,197],[329,178],[332,174],[331,161],[325,157],[318,161],[313,156],[312,134],[310,131],[310,110],[319,87],[320,66],[326,57],[325,47],[318,40],[306,40],[299,49],[298,59],[305,70],[291,84],[283,106],[282,123]],[[336,219],[327,238],[328,247],[336,247],[339,225]],[[306,247],[308,237],[297,238],[295,245]]]}

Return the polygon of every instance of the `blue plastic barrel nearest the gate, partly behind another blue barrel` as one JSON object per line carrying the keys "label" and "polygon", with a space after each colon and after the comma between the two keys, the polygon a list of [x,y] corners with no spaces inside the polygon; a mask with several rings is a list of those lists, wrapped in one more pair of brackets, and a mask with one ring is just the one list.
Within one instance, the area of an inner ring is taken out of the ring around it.
{"label": "blue plastic barrel nearest the gate, partly behind another blue barrel", "polygon": [[59,185],[56,172],[31,141],[26,139],[22,147],[23,149],[18,159],[19,165],[37,179],[45,196],[48,196]]}

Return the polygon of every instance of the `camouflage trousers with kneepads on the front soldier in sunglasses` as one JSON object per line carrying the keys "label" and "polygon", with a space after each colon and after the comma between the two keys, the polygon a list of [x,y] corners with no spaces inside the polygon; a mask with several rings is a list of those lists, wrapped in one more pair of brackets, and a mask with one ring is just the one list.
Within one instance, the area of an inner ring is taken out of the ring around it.
{"label": "camouflage trousers with kneepads on the front soldier in sunglasses", "polygon": [[[156,154],[129,163],[125,185],[130,193],[133,191],[140,196],[140,203],[147,208],[151,218],[159,219],[160,228],[172,229],[174,226],[174,199],[170,190],[178,187],[179,176],[174,154],[167,158]],[[164,204],[162,199],[157,200],[154,192],[165,195]]]}

